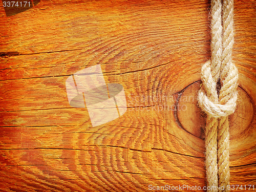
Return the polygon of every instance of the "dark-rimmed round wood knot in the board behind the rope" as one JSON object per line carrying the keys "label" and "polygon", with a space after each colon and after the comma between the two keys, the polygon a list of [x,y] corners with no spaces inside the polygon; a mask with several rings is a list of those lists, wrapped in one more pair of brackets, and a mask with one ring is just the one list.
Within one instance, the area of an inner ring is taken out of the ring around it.
{"label": "dark-rimmed round wood knot in the board behind the rope", "polygon": [[[176,121],[188,133],[204,138],[206,114],[198,105],[198,92],[201,81],[196,81],[181,91],[177,100]],[[237,109],[229,115],[230,138],[242,134],[251,124],[254,116],[253,101],[250,96],[238,87]]]}

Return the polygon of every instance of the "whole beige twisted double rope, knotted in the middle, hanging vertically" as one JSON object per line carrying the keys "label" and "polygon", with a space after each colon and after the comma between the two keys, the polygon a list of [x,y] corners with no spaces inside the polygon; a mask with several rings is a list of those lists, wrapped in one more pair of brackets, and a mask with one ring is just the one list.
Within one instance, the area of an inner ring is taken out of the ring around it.
{"label": "whole beige twisted double rope, knotted in the middle, hanging vertically", "polygon": [[[203,86],[198,94],[199,105],[207,114],[205,167],[207,186],[210,186],[208,192],[229,191],[228,115],[236,109],[238,97],[238,70],[232,62],[233,41],[233,0],[223,0],[223,5],[221,0],[212,0],[211,59],[202,66]],[[217,90],[219,80],[221,89]]]}

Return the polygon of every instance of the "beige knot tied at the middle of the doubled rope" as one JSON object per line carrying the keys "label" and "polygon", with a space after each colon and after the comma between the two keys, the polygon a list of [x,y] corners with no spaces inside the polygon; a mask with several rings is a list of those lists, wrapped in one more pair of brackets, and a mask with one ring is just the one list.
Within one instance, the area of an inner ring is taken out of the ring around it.
{"label": "beige knot tied at the middle of the doubled rope", "polygon": [[212,77],[210,62],[208,60],[202,66],[203,86],[198,93],[198,103],[208,116],[215,118],[225,117],[234,113],[237,107],[237,68],[232,63],[230,64],[230,72],[226,74],[226,79],[222,82],[223,86],[218,97],[217,82]]}

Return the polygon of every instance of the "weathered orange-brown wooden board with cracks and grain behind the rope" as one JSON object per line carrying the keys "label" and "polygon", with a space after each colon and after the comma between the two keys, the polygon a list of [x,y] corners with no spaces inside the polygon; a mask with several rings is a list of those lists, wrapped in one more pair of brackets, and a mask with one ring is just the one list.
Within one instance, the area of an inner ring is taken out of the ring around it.
{"label": "weathered orange-brown wooden board with cracks and grain behind the rope", "polygon": [[[209,1],[42,0],[9,17],[0,5],[2,191],[205,186],[196,94],[210,56]],[[240,185],[256,184],[255,8],[234,1],[230,174]],[[65,81],[96,64],[122,84],[127,111],[92,127],[86,108],[69,105]]]}

